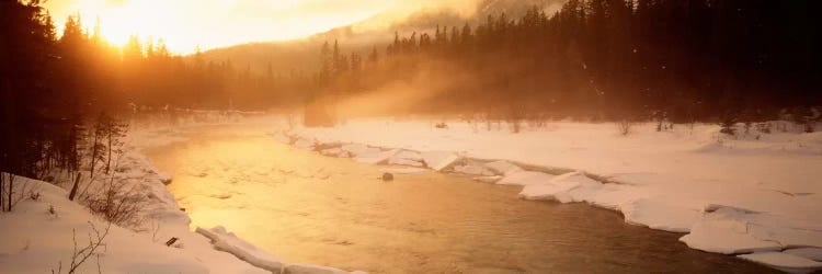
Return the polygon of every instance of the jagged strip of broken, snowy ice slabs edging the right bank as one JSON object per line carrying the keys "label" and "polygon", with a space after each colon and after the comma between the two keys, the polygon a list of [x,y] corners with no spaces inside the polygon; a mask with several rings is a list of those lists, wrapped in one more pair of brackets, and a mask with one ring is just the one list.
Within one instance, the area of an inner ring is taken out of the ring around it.
{"label": "jagged strip of broken, snowy ice slabs edging the right bank", "polygon": [[[389,122],[386,122],[386,125],[388,124]],[[752,210],[734,203],[664,201],[641,193],[649,189],[648,182],[631,182],[521,160],[482,157],[478,156],[476,150],[475,153],[418,150],[418,145],[425,144],[419,139],[407,141],[402,146],[385,146],[386,142],[396,145],[403,144],[404,140],[392,139],[375,145],[358,142],[357,138],[361,141],[369,138],[357,136],[353,129],[335,133],[351,128],[279,130],[274,133],[273,137],[279,142],[316,151],[326,157],[352,158],[354,161],[370,164],[407,165],[408,169],[422,167],[437,172],[471,175],[475,181],[484,183],[521,185],[523,191],[520,197],[523,199],[585,203],[616,210],[624,216],[627,224],[681,233],[680,241],[692,249],[734,255],[790,273],[822,270],[822,263],[819,262],[822,259],[818,258],[822,252],[822,229],[814,228],[812,221],[806,225],[788,221],[786,225],[780,222],[785,221],[780,219],[783,216]],[[452,137],[458,135],[448,134]],[[391,168],[390,170],[398,170]],[[790,197],[801,196],[788,195],[791,193],[787,191],[774,192]],[[746,229],[739,232],[740,226]]]}

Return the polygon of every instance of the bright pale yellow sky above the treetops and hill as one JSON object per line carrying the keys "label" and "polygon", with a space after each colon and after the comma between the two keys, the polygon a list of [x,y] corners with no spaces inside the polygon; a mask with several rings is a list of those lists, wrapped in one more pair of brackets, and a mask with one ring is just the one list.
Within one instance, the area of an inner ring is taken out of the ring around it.
{"label": "bright pale yellow sky above the treetops and hill", "polygon": [[50,0],[45,8],[58,33],[69,14],[83,26],[101,22],[107,41],[130,35],[162,38],[171,52],[191,54],[249,42],[287,41],[347,25],[376,14],[399,18],[420,9],[471,10],[475,0]]}

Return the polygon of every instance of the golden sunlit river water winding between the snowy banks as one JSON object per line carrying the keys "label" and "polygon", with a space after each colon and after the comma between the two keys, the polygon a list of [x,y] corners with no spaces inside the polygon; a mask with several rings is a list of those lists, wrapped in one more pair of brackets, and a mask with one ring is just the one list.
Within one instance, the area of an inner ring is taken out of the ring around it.
{"label": "golden sunlit river water winding between the snowy banks", "polygon": [[378,165],[274,141],[273,128],[208,126],[147,153],[196,226],[225,226],[286,262],[369,273],[776,273],[688,249],[585,204],[520,187]]}

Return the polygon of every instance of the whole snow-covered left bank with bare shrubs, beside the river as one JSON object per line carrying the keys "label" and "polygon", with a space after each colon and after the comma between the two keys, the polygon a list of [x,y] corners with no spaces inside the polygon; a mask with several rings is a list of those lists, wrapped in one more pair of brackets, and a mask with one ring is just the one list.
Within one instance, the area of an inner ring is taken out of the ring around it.
{"label": "whole snow-covered left bank with bare shrubs, beside the river", "polygon": [[[216,118],[189,124],[238,122],[210,116]],[[142,221],[134,227],[109,226],[69,201],[66,189],[70,185],[60,174],[56,174],[57,184],[16,178],[21,199],[12,213],[0,213],[0,273],[68,273],[73,254],[82,254],[83,248],[96,242],[100,247],[76,273],[349,273],[283,262],[220,227],[191,231],[191,219],[165,189],[172,179],[141,153],[145,148],[186,140],[178,134],[180,128],[140,124],[126,138],[114,180],[147,201]],[[89,193],[101,191],[102,181],[99,176]],[[167,246],[172,238],[176,241]]]}

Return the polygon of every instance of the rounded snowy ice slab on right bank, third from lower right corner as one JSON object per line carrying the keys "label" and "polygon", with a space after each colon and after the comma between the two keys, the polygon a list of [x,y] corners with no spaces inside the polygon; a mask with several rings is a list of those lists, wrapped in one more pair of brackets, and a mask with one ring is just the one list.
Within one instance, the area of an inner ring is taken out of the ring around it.
{"label": "rounded snowy ice slab on right bank, third from lower right corner", "polygon": [[662,198],[640,198],[621,205],[620,210],[628,224],[671,232],[689,232],[701,218],[699,210]]}

